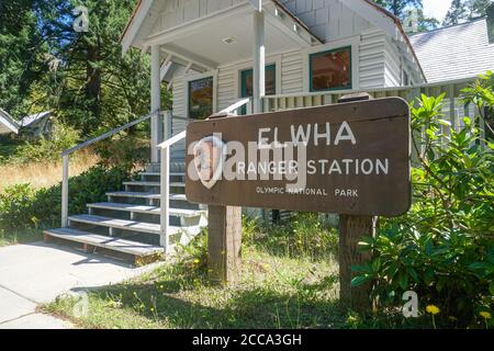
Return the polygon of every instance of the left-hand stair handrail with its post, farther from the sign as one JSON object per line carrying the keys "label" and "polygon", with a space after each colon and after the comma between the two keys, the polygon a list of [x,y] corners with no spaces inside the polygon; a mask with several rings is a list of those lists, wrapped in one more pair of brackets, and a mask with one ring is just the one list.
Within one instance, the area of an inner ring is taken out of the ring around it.
{"label": "left-hand stair handrail with its post, farther from the sign", "polygon": [[130,123],[126,123],[117,128],[114,128],[110,132],[103,133],[100,136],[97,136],[96,138],[92,138],[90,140],[83,141],[70,149],[65,150],[60,154],[63,158],[63,176],[61,176],[61,227],[67,228],[68,227],[68,197],[69,197],[69,186],[68,186],[68,179],[69,179],[69,162],[70,162],[70,155],[76,152],[77,150],[80,150],[82,148],[86,148],[94,143],[104,140],[122,131],[128,129],[130,127],[133,127],[134,125],[137,125],[144,121],[149,120],[150,117],[155,115],[161,115],[162,112],[154,112],[148,115],[142,116],[135,121],[132,121]]}

